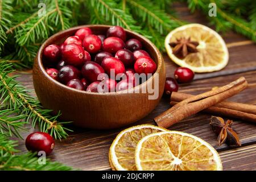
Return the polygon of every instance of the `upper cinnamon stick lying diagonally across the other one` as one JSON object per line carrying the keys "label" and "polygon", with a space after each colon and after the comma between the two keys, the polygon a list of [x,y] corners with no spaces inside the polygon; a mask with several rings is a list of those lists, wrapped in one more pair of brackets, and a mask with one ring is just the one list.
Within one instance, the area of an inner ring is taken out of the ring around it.
{"label": "upper cinnamon stick lying diagonally across the other one", "polygon": [[156,122],[156,125],[160,127],[170,127],[184,118],[234,96],[244,90],[247,85],[247,81],[244,77],[238,78],[238,80],[233,81],[228,85],[197,96],[189,97],[179,102],[156,117],[154,121]]}

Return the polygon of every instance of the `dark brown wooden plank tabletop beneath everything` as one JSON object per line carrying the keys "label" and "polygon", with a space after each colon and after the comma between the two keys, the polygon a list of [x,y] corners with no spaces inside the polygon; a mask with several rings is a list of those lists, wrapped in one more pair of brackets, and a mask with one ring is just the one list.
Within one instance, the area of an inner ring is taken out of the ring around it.
{"label": "dark brown wooden plank tabletop beneath everything", "polygon": [[[195,13],[191,15],[186,6],[175,4],[175,8],[184,20],[207,24],[204,15]],[[199,94],[210,90],[213,86],[228,84],[238,77],[244,76],[249,82],[249,88],[230,98],[230,101],[242,102],[256,105],[256,45],[245,37],[234,32],[222,34],[229,49],[229,64],[219,72],[196,74],[191,84],[180,85],[179,92]],[[167,76],[173,76],[177,65],[172,63],[167,55],[163,55],[166,63]],[[28,88],[33,88],[31,73],[19,73],[18,80]],[[167,110],[170,105],[169,98],[162,98],[159,105],[147,117],[134,123],[151,123],[158,114]],[[184,131],[200,137],[209,142],[219,152],[224,170],[256,170],[256,125],[255,123],[239,121],[234,119],[234,129],[240,135],[242,147],[230,148],[226,144],[217,145],[216,135],[209,126],[211,115],[198,113],[184,119],[180,123],[170,127],[170,130]],[[99,131],[90,129],[79,129],[73,127],[66,140],[56,141],[56,147],[49,156],[54,161],[67,164],[82,170],[109,170],[108,152],[110,144],[119,131],[125,129]],[[23,133],[23,137],[34,131]],[[26,151],[24,141],[19,140],[19,150]]]}

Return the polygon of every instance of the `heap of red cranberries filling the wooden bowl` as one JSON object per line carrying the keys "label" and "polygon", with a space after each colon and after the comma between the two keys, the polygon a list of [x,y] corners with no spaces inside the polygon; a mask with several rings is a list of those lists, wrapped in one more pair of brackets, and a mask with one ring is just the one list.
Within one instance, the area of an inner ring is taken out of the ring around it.
{"label": "heap of red cranberries filling the wooden bowl", "polygon": [[[119,26],[110,27],[106,35],[94,35],[90,28],[80,28],[59,46],[47,46],[43,62],[53,79],[88,92],[133,88],[139,84],[135,73],[156,71],[156,64],[142,50],[142,43],[137,39],[126,40],[126,32]],[[114,78],[110,74],[113,71]]]}

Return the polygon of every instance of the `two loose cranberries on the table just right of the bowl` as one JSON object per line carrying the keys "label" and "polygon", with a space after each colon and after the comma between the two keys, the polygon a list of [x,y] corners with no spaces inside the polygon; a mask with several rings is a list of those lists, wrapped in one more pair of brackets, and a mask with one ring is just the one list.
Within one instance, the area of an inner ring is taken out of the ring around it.
{"label": "two loose cranberries on the table just right of the bowl", "polygon": [[183,84],[191,82],[194,78],[194,72],[189,68],[179,67],[174,72],[174,78],[167,77],[166,85],[164,86],[164,93],[170,95],[172,92],[177,92],[179,85],[177,82]]}

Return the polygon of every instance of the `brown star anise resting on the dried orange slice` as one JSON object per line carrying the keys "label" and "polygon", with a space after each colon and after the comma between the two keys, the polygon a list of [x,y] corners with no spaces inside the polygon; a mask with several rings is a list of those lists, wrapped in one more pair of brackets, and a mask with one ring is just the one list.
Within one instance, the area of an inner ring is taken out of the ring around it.
{"label": "brown star anise resting on the dried orange slice", "polygon": [[184,58],[189,53],[197,52],[196,47],[199,45],[199,43],[191,41],[191,38],[189,37],[188,39],[176,39],[176,42],[171,42],[169,43],[169,45],[173,47],[172,52],[174,53],[175,56]]}

